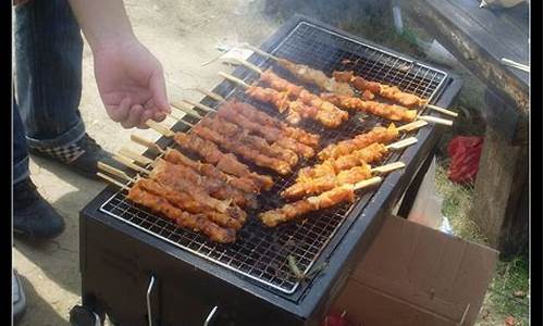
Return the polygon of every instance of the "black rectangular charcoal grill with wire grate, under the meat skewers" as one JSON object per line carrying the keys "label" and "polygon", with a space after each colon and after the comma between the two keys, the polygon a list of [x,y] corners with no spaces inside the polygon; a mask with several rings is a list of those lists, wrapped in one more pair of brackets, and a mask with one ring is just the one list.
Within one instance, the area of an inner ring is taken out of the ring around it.
{"label": "black rectangular charcoal grill with wire grate, under the meat skewers", "polygon": [[[354,63],[349,68],[357,74],[396,85],[442,106],[448,106],[460,89],[458,78],[442,70],[304,16],[289,20],[261,49],[326,73],[345,68],[342,62],[348,59]],[[295,80],[272,60],[254,54],[248,61],[261,68],[273,66],[280,75]],[[233,74],[248,83],[258,78],[245,67]],[[228,82],[213,91],[279,114],[246,98],[243,89]],[[202,103],[217,105],[210,98]],[[185,118],[195,122],[190,116]],[[380,123],[387,122],[358,114],[336,129],[311,122],[302,126],[321,135],[326,146]],[[183,123],[173,127],[175,131],[187,129]],[[406,168],[361,192],[355,203],[276,228],[249,218],[232,244],[214,243],[178,228],[126,200],[126,191],[108,187],[81,213],[83,306],[102,318],[108,314],[115,324],[131,326],[318,325],[372,241],[383,212],[396,203],[435,146],[440,128],[428,126],[413,136],[419,139],[416,146],[392,153],[383,162],[403,161]],[[158,143],[172,146],[172,140],[161,138]],[[282,203],[279,192],[294,179],[295,175],[274,176],[273,189],[259,197],[259,211],[277,208]],[[250,212],[250,216],[256,213]],[[289,255],[306,277],[294,275]]]}

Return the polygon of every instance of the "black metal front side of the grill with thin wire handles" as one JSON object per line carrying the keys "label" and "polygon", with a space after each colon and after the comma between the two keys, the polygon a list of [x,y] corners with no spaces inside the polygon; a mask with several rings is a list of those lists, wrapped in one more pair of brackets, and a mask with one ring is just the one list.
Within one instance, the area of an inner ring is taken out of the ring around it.
{"label": "black metal front side of the grill with thin wire handles", "polygon": [[[163,250],[140,231],[114,221],[82,214],[83,304],[122,326],[147,326],[146,291],[157,279],[150,300],[157,325],[202,325],[218,306],[212,325],[305,325],[293,313],[209,275]],[[114,243],[112,246],[112,243]]]}

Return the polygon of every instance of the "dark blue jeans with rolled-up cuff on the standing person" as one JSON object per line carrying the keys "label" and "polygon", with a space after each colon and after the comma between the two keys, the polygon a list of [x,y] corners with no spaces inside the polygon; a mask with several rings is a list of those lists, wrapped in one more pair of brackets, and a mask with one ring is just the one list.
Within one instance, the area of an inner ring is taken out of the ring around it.
{"label": "dark blue jeans with rolled-up cuff on the standing person", "polygon": [[28,175],[26,146],[52,150],[85,136],[78,110],[82,57],[83,39],[67,0],[34,0],[15,9],[14,183]]}

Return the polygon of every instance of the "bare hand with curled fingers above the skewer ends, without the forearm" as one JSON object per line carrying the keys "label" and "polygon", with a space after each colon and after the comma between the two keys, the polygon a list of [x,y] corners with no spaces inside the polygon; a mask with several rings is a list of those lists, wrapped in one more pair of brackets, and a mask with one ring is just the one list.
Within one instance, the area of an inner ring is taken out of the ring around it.
{"label": "bare hand with curled fingers above the skewer ends, without the forearm", "polygon": [[162,66],[139,41],[94,51],[95,77],[108,115],[125,128],[146,128],[170,113]]}

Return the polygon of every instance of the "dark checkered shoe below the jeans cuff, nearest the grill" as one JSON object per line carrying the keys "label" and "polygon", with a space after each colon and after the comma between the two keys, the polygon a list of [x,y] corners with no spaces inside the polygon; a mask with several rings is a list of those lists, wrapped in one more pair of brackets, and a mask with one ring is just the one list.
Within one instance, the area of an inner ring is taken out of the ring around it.
{"label": "dark checkered shoe below the jeans cuff, nearest the grill", "polygon": [[97,163],[99,161],[110,166],[120,167],[120,164],[112,159],[111,154],[104,151],[87,134],[79,141],[67,147],[54,149],[29,148],[29,151],[35,155],[57,161],[70,170],[92,179],[99,179],[97,176]]}

